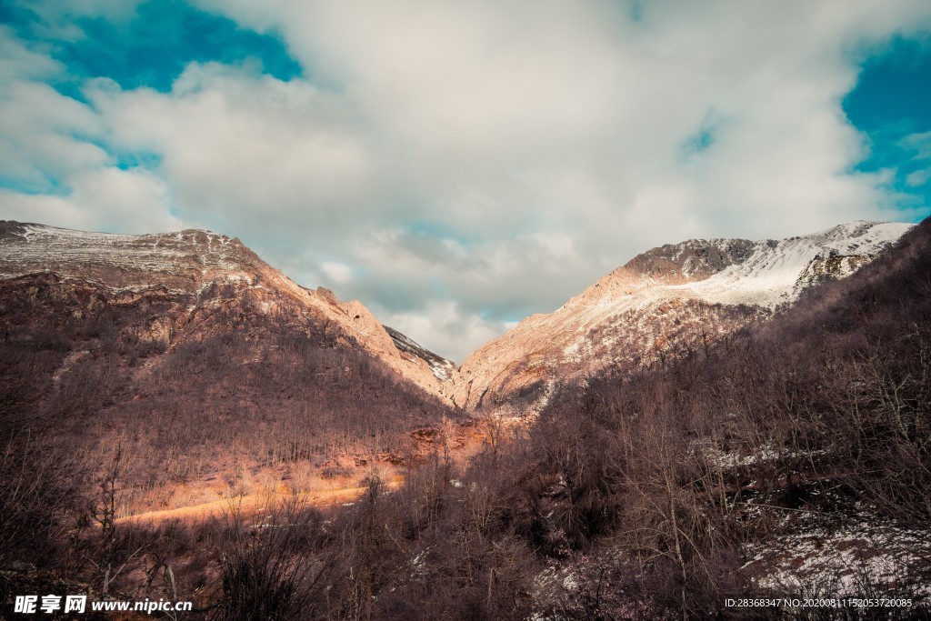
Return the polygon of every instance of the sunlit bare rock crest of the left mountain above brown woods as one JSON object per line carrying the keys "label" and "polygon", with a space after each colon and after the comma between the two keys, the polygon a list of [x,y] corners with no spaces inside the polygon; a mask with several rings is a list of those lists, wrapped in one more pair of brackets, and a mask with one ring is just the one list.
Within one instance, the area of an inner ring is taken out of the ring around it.
{"label": "sunlit bare rock crest of the left mountain above brown woods", "polygon": [[[0,221],[0,278],[36,274],[105,290],[119,304],[146,304],[159,294],[171,308],[153,317],[139,336],[164,346],[180,326],[236,301],[240,314],[287,316],[298,323],[328,321],[342,332],[347,346],[350,341],[358,344],[433,395],[443,396],[452,386],[431,366],[441,365],[442,358],[423,348],[419,355],[402,354],[392,335],[358,301],[343,303],[330,290],[304,289],[238,239],[209,231],[113,235]],[[88,293],[88,304],[95,304],[93,295]]]}

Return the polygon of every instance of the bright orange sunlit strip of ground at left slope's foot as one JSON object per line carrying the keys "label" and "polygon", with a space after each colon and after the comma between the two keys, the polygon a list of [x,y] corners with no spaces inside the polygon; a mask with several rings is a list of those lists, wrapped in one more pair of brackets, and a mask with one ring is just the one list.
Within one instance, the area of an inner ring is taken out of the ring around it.
{"label": "bright orange sunlit strip of ground at left slope's foot", "polygon": [[[404,479],[400,476],[392,477],[385,481],[385,486],[389,490],[397,490]],[[314,490],[304,493],[309,506],[333,506],[340,503],[355,501],[366,487],[341,487],[325,490]],[[119,518],[117,523],[141,523],[141,522],[160,522],[166,520],[206,520],[211,516],[220,516],[236,506],[240,511],[245,513],[259,513],[269,502],[284,500],[290,498],[290,493],[255,493],[233,498],[223,498],[211,503],[201,505],[180,506],[176,509],[164,509],[160,511],[146,511],[136,515]]]}

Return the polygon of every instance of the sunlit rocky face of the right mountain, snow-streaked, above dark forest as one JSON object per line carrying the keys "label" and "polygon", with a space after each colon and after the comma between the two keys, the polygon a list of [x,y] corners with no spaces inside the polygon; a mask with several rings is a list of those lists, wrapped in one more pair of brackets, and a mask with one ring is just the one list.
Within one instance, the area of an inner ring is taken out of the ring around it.
{"label": "sunlit rocky face of the right mountain, snow-streaked, above dark forest", "polygon": [[649,250],[479,348],[463,362],[453,398],[470,410],[538,412],[560,381],[699,349],[808,287],[852,274],[910,227],[855,222],[781,241],[699,239]]}

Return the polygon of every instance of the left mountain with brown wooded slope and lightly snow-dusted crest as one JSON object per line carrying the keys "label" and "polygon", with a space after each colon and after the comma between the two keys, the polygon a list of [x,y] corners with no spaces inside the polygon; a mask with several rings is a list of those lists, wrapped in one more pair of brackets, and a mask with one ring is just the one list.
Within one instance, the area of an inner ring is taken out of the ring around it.
{"label": "left mountain with brown wooded slope and lightly snow-dusted crest", "polygon": [[235,239],[0,224],[2,439],[86,493],[118,454],[122,514],[409,461],[457,416],[416,353]]}

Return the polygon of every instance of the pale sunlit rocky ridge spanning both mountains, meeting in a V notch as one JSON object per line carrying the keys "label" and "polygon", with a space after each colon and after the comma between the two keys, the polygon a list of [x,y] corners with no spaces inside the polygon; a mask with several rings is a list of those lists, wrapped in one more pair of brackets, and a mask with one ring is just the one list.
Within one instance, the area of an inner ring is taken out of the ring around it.
{"label": "pale sunlit rocky ridge spanning both mountains, meeting in a V notch", "polygon": [[[323,317],[425,392],[466,410],[538,412],[559,382],[611,365],[652,364],[770,317],[810,287],[849,276],[911,228],[855,221],[782,240],[688,239],[646,250],[559,309],[526,317],[457,367],[381,324],[358,300],[304,288],[237,238],[185,229],[86,233],[0,221],[0,278],[54,272],[121,294],[187,295],[189,314],[248,291],[256,312]],[[164,322],[163,322],[164,323]],[[154,331],[170,340],[172,326]]]}

